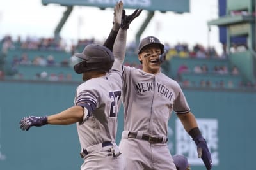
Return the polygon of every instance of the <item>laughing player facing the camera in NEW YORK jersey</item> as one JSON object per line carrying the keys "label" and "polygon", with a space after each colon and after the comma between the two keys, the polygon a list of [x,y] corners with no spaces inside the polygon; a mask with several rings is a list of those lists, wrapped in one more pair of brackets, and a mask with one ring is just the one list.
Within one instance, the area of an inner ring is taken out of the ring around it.
{"label": "laughing player facing the camera in NEW YORK jersey", "polygon": [[186,97],[176,81],[161,73],[165,53],[159,39],[148,36],[138,47],[142,70],[123,66],[124,131],[119,148],[125,169],[176,169],[167,146],[168,120],[174,110],[209,170],[211,153]]}

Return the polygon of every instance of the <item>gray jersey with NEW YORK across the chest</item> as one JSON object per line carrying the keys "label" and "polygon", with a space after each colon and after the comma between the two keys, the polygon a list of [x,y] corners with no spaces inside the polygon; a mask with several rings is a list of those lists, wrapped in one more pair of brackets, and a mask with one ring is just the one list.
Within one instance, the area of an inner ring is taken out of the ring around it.
{"label": "gray jersey with NEW YORK across the chest", "polygon": [[123,70],[124,131],[167,136],[172,110],[190,111],[179,84],[161,72],[125,66]]}

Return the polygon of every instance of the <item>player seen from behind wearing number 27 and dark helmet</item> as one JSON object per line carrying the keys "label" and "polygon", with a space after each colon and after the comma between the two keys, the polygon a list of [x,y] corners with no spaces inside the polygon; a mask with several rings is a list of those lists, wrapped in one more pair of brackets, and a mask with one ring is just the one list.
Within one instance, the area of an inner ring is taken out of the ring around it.
{"label": "player seen from behind wearing number 27 and dark helmet", "polygon": [[126,36],[128,28],[119,27],[124,28],[124,25],[131,24],[138,16],[136,14],[133,13],[133,17],[122,17],[123,3],[119,1],[115,5],[113,28],[104,46],[91,44],[84,48],[83,53],[76,53],[83,60],[74,66],[74,70],[76,73],[83,73],[85,82],[76,89],[73,107],[54,115],[28,116],[20,120],[20,129],[26,131],[32,126],[76,123],[81,144],[80,154],[84,159],[81,170],[124,169],[124,159],[115,140],[126,41],[114,44],[115,41],[111,40],[115,40],[117,32],[117,38]]}

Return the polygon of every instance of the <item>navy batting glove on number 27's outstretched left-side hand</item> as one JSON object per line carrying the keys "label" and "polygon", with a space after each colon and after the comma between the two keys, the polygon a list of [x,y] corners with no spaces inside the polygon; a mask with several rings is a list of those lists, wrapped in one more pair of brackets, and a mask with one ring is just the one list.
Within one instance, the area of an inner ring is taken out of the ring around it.
{"label": "navy batting glove on number 27's outstretched left-side hand", "polygon": [[23,131],[28,131],[31,126],[40,127],[42,125],[48,124],[47,117],[24,117],[20,120],[20,129]]}

